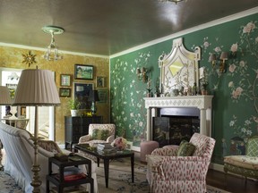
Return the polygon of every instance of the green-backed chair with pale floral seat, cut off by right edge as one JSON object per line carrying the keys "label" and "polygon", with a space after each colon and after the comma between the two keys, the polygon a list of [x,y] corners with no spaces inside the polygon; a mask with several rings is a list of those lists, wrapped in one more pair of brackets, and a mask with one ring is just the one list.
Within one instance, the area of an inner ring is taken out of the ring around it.
{"label": "green-backed chair with pale floral seat, cut off by right edge", "polygon": [[258,136],[248,138],[246,155],[224,157],[224,171],[245,176],[245,182],[247,177],[258,179]]}

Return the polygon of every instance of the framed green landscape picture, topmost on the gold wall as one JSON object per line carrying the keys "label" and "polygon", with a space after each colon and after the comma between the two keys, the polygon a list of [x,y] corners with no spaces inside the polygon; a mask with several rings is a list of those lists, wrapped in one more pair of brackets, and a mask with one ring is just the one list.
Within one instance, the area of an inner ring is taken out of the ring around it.
{"label": "framed green landscape picture, topmost on the gold wall", "polygon": [[75,80],[93,80],[93,66],[75,64],[74,65],[74,79]]}

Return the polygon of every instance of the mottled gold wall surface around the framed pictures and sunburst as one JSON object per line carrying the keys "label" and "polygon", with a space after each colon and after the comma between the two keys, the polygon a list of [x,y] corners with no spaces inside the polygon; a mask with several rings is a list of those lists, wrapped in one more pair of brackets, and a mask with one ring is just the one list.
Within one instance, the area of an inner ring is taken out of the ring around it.
{"label": "mottled gold wall surface around the framed pictures and sunburst", "polygon": [[[35,56],[36,63],[24,63],[24,55]],[[56,73],[56,88],[59,92],[60,74],[72,75],[72,93],[73,81],[83,83],[93,83],[94,89],[107,90],[107,103],[97,103],[97,115],[103,116],[103,122],[110,122],[109,119],[109,59],[105,57],[93,57],[86,55],[64,55],[64,59],[60,61],[46,61],[42,58],[44,53],[38,50],[29,50],[23,48],[0,46],[0,68],[15,68],[15,69],[33,69],[38,65],[39,69],[47,69]],[[22,63],[23,62],[23,63]],[[93,80],[74,80],[74,64],[90,64],[94,66]],[[96,78],[105,77],[105,87],[97,88]],[[62,87],[63,88],[63,87]],[[73,96],[73,95],[72,95]],[[64,143],[64,116],[71,115],[67,102],[69,98],[60,97],[61,105],[56,106],[56,142]]]}

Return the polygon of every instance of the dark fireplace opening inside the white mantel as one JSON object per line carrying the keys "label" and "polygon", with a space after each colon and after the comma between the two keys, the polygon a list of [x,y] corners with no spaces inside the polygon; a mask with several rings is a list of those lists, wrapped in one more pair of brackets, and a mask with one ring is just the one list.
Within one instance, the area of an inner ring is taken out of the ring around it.
{"label": "dark fireplace opening inside the white mantel", "polygon": [[179,145],[182,140],[189,141],[194,132],[200,133],[200,111],[195,108],[160,109],[152,122],[152,139],[159,147]]}

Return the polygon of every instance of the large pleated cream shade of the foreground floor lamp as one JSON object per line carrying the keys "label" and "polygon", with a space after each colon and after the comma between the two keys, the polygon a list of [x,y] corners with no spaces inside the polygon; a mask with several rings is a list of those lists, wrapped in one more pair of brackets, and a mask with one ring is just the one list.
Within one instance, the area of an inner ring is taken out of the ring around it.
{"label": "large pleated cream shade of the foreground floor lamp", "polygon": [[23,70],[13,105],[60,105],[52,72],[39,69]]}

